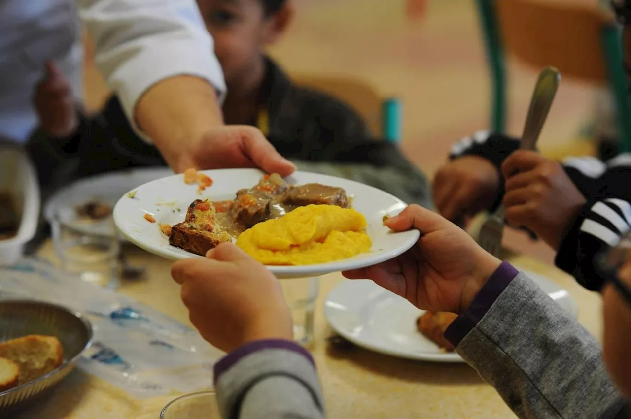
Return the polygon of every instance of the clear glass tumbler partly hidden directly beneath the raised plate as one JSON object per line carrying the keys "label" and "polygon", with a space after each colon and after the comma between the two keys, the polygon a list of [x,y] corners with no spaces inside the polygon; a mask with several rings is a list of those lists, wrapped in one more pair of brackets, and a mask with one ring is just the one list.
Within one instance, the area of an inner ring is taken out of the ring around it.
{"label": "clear glass tumbler partly hidden directly beneath the raised plate", "polygon": [[293,339],[308,345],[314,338],[315,302],[320,290],[318,277],[281,279],[285,301],[292,311]]}

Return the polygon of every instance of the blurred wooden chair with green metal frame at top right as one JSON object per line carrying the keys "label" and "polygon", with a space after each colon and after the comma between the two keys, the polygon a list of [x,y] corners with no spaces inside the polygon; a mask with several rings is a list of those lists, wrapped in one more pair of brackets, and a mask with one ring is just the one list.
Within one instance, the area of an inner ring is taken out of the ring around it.
{"label": "blurred wooden chair with green metal frame at top right", "polygon": [[631,113],[622,66],[620,28],[613,14],[560,0],[476,0],[493,79],[492,129],[505,129],[504,52],[563,77],[608,84],[615,98],[620,143],[631,151]]}

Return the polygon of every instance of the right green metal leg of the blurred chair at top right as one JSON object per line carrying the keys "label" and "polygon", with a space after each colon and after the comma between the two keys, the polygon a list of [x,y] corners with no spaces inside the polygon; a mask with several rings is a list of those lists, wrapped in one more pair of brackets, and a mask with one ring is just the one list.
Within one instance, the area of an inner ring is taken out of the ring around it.
{"label": "right green metal leg of the blurred chair at top right", "polygon": [[620,127],[620,150],[631,152],[631,112],[627,97],[627,76],[622,66],[622,40],[620,28],[615,24],[602,29],[604,60],[608,72],[611,93],[618,113]]}

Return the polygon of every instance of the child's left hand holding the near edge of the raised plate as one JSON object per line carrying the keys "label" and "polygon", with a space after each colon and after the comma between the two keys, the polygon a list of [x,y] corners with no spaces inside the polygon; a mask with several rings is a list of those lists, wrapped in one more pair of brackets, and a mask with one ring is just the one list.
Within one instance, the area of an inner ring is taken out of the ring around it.
{"label": "child's left hand holding the near edge of the raised plate", "polygon": [[206,259],[173,265],[191,323],[211,345],[230,352],[262,339],[292,340],[292,315],[278,280],[232,243],[209,250]]}

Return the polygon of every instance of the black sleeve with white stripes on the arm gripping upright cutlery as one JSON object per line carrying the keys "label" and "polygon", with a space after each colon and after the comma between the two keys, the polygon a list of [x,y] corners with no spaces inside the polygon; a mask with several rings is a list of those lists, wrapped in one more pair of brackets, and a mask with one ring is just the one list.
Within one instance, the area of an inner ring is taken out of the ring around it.
{"label": "black sleeve with white stripes on the arm gripping upright cutlery", "polygon": [[631,230],[631,155],[622,154],[603,166],[603,174],[594,181],[591,196],[586,194],[587,204],[572,223],[555,259],[557,267],[591,290],[603,286],[594,258],[616,246]]}

